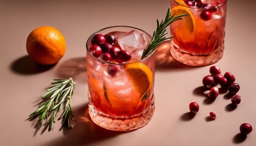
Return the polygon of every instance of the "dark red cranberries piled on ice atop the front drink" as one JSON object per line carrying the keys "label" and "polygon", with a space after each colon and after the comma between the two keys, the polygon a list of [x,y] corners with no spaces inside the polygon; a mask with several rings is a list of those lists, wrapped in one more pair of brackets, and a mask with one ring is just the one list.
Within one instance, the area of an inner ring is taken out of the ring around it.
{"label": "dark red cranberries piled on ice atop the front drink", "polygon": [[90,53],[104,61],[116,61],[122,63],[129,61],[132,55],[127,50],[122,50],[115,36],[107,33],[106,35],[96,34],[91,39],[92,46],[89,48]]}

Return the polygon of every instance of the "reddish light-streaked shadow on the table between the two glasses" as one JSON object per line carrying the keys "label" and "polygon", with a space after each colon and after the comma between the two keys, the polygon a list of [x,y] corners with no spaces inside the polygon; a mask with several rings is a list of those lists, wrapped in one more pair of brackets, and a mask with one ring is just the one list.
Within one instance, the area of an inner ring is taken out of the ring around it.
{"label": "reddish light-streaked shadow on the table between the two glasses", "polygon": [[165,71],[168,69],[192,69],[193,66],[187,66],[180,63],[179,61],[172,58],[170,49],[171,41],[163,41],[160,45],[157,46],[155,50],[155,69],[156,71]]}

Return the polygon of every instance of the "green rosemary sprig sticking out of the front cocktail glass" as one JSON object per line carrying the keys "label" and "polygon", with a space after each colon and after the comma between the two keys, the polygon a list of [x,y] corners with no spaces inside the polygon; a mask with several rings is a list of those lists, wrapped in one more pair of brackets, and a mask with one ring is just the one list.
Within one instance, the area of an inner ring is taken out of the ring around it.
{"label": "green rosemary sprig sticking out of the front cocktail glass", "polygon": [[169,24],[173,23],[178,19],[182,19],[182,16],[187,16],[187,14],[181,14],[178,16],[174,16],[174,15],[171,15],[170,10],[168,9],[168,12],[165,17],[165,21],[162,20],[161,23],[159,24],[159,21],[157,19],[157,29],[154,31],[152,35],[152,40],[148,44],[148,47],[144,49],[143,54],[141,56],[141,60],[151,55],[152,52],[154,52],[154,50],[156,49],[156,46],[158,46],[158,44],[161,44],[163,41],[168,40],[169,38],[173,38],[173,37],[169,37],[169,38],[165,37],[165,35],[167,34],[166,27],[168,27]]}

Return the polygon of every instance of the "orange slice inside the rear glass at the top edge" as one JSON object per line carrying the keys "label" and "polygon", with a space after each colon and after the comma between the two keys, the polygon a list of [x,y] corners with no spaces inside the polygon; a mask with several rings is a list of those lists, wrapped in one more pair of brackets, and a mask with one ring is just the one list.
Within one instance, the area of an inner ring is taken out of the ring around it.
{"label": "orange slice inside the rear glass at the top edge", "polygon": [[179,39],[183,41],[192,40],[196,30],[196,20],[190,10],[185,6],[178,5],[172,9],[172,15],[177,16],[180,14],[187,14],[187,16],[183,16],[182,21],[174,24],[173,29],[176,31],[176,35],[178,34],[180,36]]}

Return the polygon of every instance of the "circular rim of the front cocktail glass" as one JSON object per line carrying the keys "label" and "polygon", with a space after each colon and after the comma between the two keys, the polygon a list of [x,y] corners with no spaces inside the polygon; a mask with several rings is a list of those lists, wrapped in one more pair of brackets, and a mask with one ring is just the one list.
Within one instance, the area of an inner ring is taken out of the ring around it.
{"label": "circular rim of the front cocktail glass", "polygon": [[133,26],[109,26],[109,27],[104,27],[103,29],[98,29],[98,30],[96,30],[95,32],[93,32],[93,33],[89,36],[89,38],[88,38],[88,40],[87,40],[87,43],[86,43],[87,52],[88,52],[88,54],[89,54],[94,60],[100,61],[101,63],[107,63],[107,64],[113,64],[113,65],[126,65],[126,64],[132,64],[132,63],[137,63],[137,62],[142,62],[142,61],[144,61],[144,60],[147,60],[148,58],[150,58],[150,57],[152,56],[152,54],[155,53],[155,50],[156,50],[156,49],[155,49],[150,55],[148,55],[147,57],[143,58],[142,60],[132,61],[132,62],[126,62],[126,63],[111,63],[111,62],[104,61],[104,60],[101,60],[101,59],[99,59],[99,58],[94,57],[94,56],[90,53],[90,51],[89,51],[89,42],[90,42],[90,39],[91,39],[94,35],[96,35],[96,33],[101,32],[102,30],[111,29],[111,28],[114,28],[114,27],[126,27],[126,28],[130,28],[130,29],[137,29],[137,30],[140,30],[140,31],[143,32],[143,33],[146,33],[146,35],[148,35],[148,36],[152,39],[152,36],[149,35],[148,32],[145,32],[144,30],[139,29],[139,28],[137,28],[137,27],[133,27]]}

